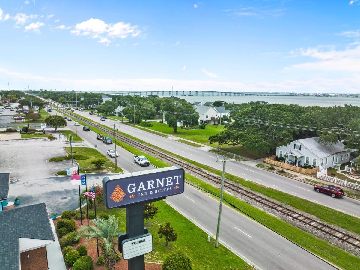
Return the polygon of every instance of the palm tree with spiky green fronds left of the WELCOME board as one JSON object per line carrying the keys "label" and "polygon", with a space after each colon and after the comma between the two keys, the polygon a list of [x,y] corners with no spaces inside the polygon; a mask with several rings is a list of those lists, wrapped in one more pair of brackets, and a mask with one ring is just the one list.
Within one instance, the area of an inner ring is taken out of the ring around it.
{"label": "palm tree with spiky green fronds left of the WELCOME board", "polygon": [[110,216],[108,220],[99,218],[94,220],[95,226],[82,226],[78,238],[86,237],[87,242],[92,238],[99,239],[99,248],[101,255],[104,257],[105,269],[114,270],[116,263],[116,247],[118,227],[121,224],[118,218]]}

